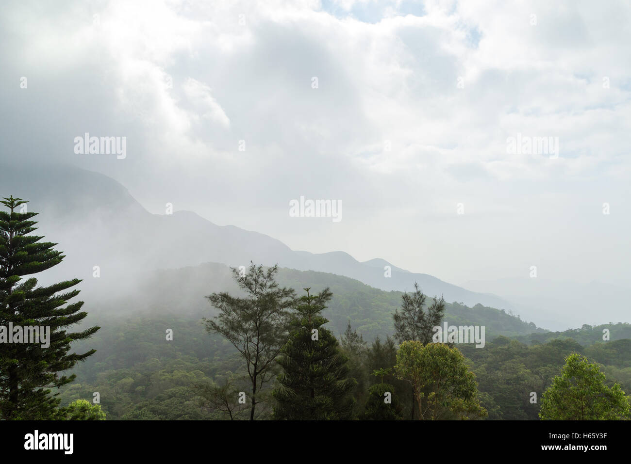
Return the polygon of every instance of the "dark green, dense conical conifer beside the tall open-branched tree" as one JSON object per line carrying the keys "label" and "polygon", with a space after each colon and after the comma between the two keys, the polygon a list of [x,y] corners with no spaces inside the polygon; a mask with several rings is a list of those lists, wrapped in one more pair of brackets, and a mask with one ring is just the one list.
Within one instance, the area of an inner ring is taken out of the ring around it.
{"label": "dark green, dense conical conifer beside the tall open-branched tree", "polygon": [[333,333],[322,327],[329,321],[320,315],[333,294],[328,288],[317,295],[305,291],[294,307],[292,335],[278,360],[283,371],[273,391],[274,419],[351,419],[355,380],[347,379],[348,358]]}

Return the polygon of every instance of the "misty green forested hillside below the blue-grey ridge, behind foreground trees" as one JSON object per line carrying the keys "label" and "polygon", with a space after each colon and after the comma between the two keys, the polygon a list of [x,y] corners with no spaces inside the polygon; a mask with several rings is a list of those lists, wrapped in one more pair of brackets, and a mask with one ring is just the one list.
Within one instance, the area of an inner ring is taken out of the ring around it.
{"label": "misty green forested hillside below the blue-grey ridge, behind foreground trees", "polygon": [[[278,282],[297,293],[304,287],[330,287],[333,298],[322,313],[330,320],[329,328],[344,339],[350,323],[366,342],[365,351],[349,353],[351,373],[358,381],[355,412],[363,414],[370,385],[377,383],[370,375],[373,368],[394,365],[396,349],[393,343],[388,347],[387,339],[393,335],[392,314],[401,307],[403,293],[381,291],[339,275],[292,269],[280,269]],[[216,314],[204,298],[211,291],[239,293],[230,270],[220,264],[164,270],[148,276],[137,290],[137,295],[112,300],[116,301],[112,306],[94,308],[90,318],[105,320],[110,315],[92,339],[81,342],[97,353],[74,369],[77,380],[62,391],[62,404],[89,399],[98,391],[108,419],[227,419],[225,413],[208,407],[203,391],[210,385],[228,385],[230,380],[230,386],[245,389],[244,366],[227,340],[206,332],[201,318]],[[609,383],[618,381],[631,390],[628,324],[608,326],[611,341],[604,342],[601,328],[551,333],[481,305],[447,303],[444,320],[486,328],[485,349],[473,344],[458,348],[476,374],[488,419],[538,419],[539,404],[530,402],[531,392],[541,396],[570,352],[603,364]],[[165,339],[168,329],[173,340]],[[386,374],[385,380],[408,398],[409,386],[392,374]],[[408,414],[408,403],[403,402],[402,408]],[[243,413],[235,418],[245,419]],[[270,414],[263,406],[257,417]]]}

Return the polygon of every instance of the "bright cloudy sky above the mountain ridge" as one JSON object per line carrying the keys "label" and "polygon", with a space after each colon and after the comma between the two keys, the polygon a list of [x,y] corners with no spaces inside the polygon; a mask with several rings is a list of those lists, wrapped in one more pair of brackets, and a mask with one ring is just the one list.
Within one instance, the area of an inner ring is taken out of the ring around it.
{"label": "bright cloudy sky above the mountain ridge", "polygon": [[8,1],[0,161],[454,284],[627,284],[630,43],[622,1]]}

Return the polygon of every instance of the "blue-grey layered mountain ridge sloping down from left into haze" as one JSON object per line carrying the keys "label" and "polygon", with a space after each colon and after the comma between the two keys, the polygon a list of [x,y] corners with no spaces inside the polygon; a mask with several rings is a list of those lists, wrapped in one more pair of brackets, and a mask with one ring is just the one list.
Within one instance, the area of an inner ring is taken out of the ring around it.
{"label": "blue-grey layered mountain ridge sloping down from left into haze", "polygon": [[[123,291],[133,286],[134,275],[155,269],[207,262],[239,267],[252,261],[343,275],[386,291],[410,291],[418,282],[424,293],[442,295],[448,302],[512,308],[493,294],[468,291],[380,258],[359,262],[345,252],[295,251],[270,236],[218,226],[192,211],[151,214],[123,185],[93,171],[61,165],[0,165],[0,186],[0,196],[30,200],[28,211],[40,213],[38,226],[45,240],[59,243],[57,248],[66,254],[64,263],[56,267],[59,274],[49,275],[51,280],[80,277],[85,280],[83,287],[115,282],[117,291]],[[98,280],[93,279],[95,273]]]}

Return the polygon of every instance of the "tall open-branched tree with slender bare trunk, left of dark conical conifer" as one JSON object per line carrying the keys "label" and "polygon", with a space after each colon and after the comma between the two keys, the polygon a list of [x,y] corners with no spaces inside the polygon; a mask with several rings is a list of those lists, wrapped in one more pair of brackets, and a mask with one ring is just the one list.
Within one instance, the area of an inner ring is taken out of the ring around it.
{"label": "tall open-branched tree with slender bare trunk, left of dark conical conifer", "polygon": [[231,268],[245,298],[228,293],[207,296],[219,314],[204,318],[209,333],[221,333],[245,360],[252,385],[250,420],[254,420],[261,389],[274,375],[274,359],[288,338],[289,313],[295,297],[293,289],[280,288],[274,281],[278,266],[264,270],[252,263],[245,274]]}

